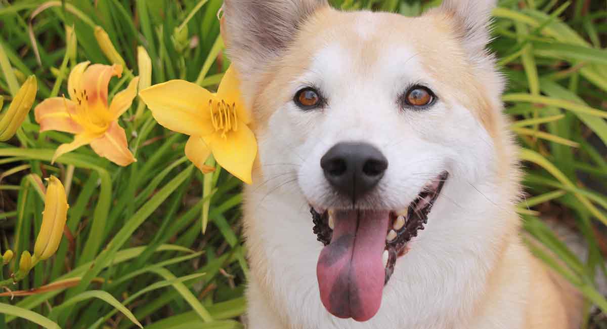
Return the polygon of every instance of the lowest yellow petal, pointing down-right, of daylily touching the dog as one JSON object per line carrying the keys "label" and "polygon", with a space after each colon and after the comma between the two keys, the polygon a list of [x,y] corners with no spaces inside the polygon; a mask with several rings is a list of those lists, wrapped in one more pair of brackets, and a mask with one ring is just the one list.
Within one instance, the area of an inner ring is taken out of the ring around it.
{"label": "lowest yellow petal, pointing down-right, of daylily touching the dog", "polygon": [[239,122],[238,130],[229,132],[226,138],[220,133],[203,138],[223,169],[245,183],[251,184],[251,171],[257,156],[257,140],[249,127]]}

